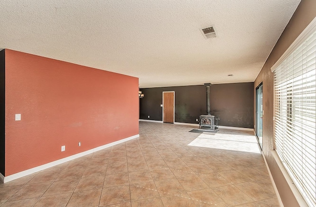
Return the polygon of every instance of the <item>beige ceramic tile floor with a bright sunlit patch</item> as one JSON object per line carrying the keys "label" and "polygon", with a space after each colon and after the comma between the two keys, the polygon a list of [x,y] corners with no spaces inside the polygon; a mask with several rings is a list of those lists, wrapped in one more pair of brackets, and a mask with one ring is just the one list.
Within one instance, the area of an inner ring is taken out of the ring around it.
{"label": "beige ceramic tile floor with a bright sunlit patch", "polygon": [[261,154],[241,150],[252,132],[192,128],[140,122],[137,139],[0,184],[0,206],[278,206]]}

